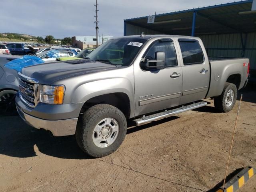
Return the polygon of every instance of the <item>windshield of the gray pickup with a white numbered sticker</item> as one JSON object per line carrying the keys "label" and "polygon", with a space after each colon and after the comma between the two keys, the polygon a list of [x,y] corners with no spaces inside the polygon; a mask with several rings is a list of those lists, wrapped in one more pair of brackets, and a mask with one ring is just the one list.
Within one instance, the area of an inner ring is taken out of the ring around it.
{"label": "windshield of the gray pickup with a white numbered sticker", "polygon": [[87,58],[128,66],[146,41],[141,38],[111,39],[90,53]]}

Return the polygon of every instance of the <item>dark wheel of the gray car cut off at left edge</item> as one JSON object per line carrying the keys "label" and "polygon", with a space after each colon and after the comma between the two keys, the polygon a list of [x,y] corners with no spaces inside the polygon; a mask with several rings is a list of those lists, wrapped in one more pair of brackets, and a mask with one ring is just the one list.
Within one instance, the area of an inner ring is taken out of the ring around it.
{"label": "dark wheel of the gray car cut off at left edge", "polygon": [[3,90],[0,92],[0,114],[2,115],[17,115],[14,90]]}

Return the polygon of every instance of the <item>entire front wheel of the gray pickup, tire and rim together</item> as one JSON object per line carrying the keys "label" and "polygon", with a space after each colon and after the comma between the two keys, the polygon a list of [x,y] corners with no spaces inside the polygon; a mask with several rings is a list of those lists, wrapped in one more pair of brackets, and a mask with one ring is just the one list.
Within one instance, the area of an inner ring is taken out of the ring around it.
{"label": "entire front wheel of the gray pickup, tire and rim together", "polygon": [[126,130],[126,118],[118,108],[97,104],[79,117],[76,141],[86,154],[104,157],[119,148]]}

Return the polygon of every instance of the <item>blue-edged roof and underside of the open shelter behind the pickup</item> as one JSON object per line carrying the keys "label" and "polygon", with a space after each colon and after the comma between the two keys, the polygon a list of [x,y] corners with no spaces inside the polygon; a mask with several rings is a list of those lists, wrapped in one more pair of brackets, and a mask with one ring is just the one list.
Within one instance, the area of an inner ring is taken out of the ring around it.
{"label": "blue-edged roof and underside of the open shelter behind the pickup", "polygon": [[154,23],[148,16],[124,20],[124,35],[139,34],[230,34],[256,32],[253,0],[157,14]]}

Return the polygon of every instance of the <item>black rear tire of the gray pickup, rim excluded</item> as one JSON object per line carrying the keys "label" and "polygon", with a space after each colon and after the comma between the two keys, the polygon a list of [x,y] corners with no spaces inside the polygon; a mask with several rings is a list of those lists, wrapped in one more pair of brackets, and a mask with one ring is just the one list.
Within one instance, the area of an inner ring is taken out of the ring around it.
{"label": "black rear tire of the gray pickup, rim excluded", "polygon": [[[229,106],[228,104],[226,104],[226,98],[227,98],[228,92],[230,90],[232,90],[234,92],[234,98],[232,100],[232,103]],[[220,96],[214,98],[214,106],[221,112],[225,112],[225,113],[229,112],[230,110],[232,110],[232,108],[234,107],[234,105],[236,103],[236,97],[237,97],[236,85],[233,83],[225,83],[222,94]]]}

